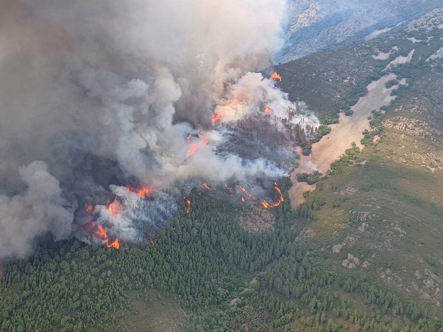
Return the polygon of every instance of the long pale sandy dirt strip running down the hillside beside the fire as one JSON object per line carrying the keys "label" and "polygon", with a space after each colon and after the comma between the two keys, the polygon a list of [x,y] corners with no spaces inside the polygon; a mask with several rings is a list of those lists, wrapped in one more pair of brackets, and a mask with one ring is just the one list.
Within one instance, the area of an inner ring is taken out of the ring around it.
{"label": "long pale sandy dirt strip running down the hillside beside the fire", "polygon": [[352,142],[355,142],[357,147],[363,148],[360,141],[363,138],[362,132],[369,128],[368,116],[371,115],[372,110],[380,110],[380,107],[389,105],[395,98],[390,94],[392,90],[398,89],[398,86],[386,88],[386,82],[395,78],[395,74],[389,74],[369,84],[368,94],[361,97],[352,107],[353,115],[348,117],[343,113],[340,114],[339,123],[331,124],[331,133],[313,144],[311,155],[305,156],[300,153],[300,166],[291,174],[294,185],[289,191],[289,195],[293,207],[304,202],[303,193],[305,191],[315,189],[315,185],[297,182],[296,174],[312,173],[313,171],[326,174],[331,163],[340,158]]}

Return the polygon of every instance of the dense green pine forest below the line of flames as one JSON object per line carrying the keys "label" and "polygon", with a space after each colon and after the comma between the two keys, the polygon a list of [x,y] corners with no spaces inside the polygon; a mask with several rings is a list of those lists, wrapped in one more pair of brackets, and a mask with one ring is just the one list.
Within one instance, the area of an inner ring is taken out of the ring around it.
{"label": "dense green pine forest below the line of flames", "polygon": [[[41,245],[29,259],[4,267],[1,331],[115,329],[128,315],[128,294],[149,302],[167,294],[187,313],[190,331],[443,331],[442,321],[413,300],[340,272],[328,255],[296,239],[312,206],[272,213],[271,233],[251,235],[242,209],[194,192],[191,209],[145,244],[121,250],[78,240]],[[244,209],[247,209],[245,207]],[[252,281],[251,281],[252,280]]]}

